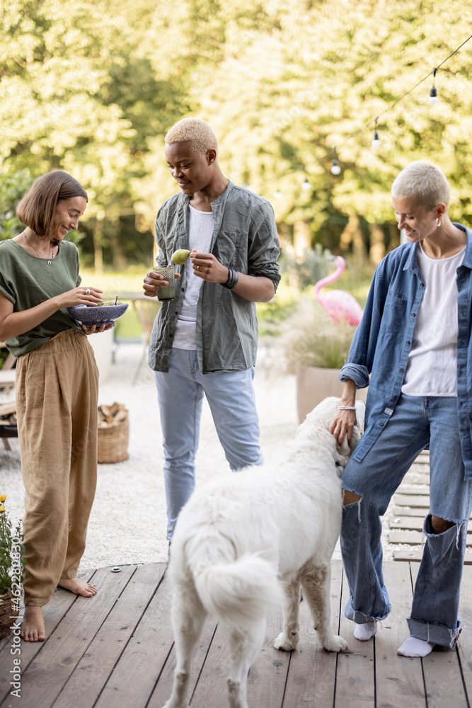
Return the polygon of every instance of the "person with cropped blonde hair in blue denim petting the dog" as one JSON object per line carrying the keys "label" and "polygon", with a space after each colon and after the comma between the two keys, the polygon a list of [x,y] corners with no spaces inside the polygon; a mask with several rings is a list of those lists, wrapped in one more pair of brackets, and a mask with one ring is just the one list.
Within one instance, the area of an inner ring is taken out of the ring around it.
{"label": "person with cropped blonde hair in blue denim petting the dog", "polygon": [[[354,636],[369,640],[391,605],[382,576],[381,516],[403,476],[430,447],[430,513],[403,656],[453,647],[472,507],[472,232],[447,215],[449,184],[413,162],[393,182],[408,243],[377,267],[332,432],[350,438],[356,389],[369,385],[365,433],[343,473],[341,549]],[[370,375],[370,382],[369,382]]]}

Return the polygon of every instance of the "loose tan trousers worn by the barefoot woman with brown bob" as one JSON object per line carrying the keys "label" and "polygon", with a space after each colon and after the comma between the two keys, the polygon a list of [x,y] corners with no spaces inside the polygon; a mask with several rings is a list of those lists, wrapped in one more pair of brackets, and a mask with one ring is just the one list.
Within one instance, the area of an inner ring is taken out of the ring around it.
{"label": "loose tan trousers worn by the barefoot woman with brown bob", "polygon": [[84,554],[97,481],[98,369],[68,329],[18,357],[16,399],[25,484],[25,605],[47,605]]}

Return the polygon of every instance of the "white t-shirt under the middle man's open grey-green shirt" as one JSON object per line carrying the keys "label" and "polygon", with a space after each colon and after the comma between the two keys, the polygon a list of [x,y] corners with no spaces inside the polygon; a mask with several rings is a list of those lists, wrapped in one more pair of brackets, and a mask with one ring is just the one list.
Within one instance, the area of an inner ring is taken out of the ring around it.
{"label": "white t-shirt under the middle man's open grey-green shirt", "polygon": [[[213,236],[213,212],[200,212],[191,204],[188,208],[188,247],[190,251],[197,249],[198,253],[209,253]],[[185,292],[173,337],[172,346],[176,349],[197,348],[197,304],[202,282],[202,278],[193,272],[192,261],[188,258],[185,263]]]}

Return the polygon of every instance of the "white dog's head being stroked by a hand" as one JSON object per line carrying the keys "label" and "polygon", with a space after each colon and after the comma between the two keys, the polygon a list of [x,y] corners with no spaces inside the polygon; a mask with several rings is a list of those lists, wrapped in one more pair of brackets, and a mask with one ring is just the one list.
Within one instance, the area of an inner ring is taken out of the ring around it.
{"label": "white dog's head being stroked by a hand", "polygon": [[[333,423],[333,418],[338,412],[338,406],[340,406],[340,404],[341,400],[335,398],[335,396],[330,396],[324,399],[324,401],[321,401],[321,404],[318,404],[318,406],[306,416],[301,426],[299,426],[297,438],[312,438],[319,430],[328,430],[329,433],[331,423]],[[352,429],[351,440],[348,441],[347,438],[345,438],[342,445],[335,442],[335,463],[339,468],[339,474],[343,472],[352,450],[355,449],[361,439],[364,428],[364,414],[364,403],[362,401],[356,401],[356,424]]]}

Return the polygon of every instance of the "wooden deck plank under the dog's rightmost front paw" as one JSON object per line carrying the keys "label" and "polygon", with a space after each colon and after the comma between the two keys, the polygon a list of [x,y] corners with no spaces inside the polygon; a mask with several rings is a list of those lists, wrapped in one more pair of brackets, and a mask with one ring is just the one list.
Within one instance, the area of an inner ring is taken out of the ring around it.
{"label": "wooden deck plank under the dog's rightmost front paw", "polygon": [[[339,634],[343,564],[331,562],[331,627]],[[292,652],[284,695],[284,708],[331,708],[334,700],[338,655],[324,651],[313,630],[308,605],[301,603],[300,642]],[[347,638],[344,637],[344,639]],[[257,705],[257,704],[253,704]]]}

